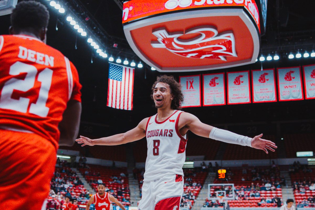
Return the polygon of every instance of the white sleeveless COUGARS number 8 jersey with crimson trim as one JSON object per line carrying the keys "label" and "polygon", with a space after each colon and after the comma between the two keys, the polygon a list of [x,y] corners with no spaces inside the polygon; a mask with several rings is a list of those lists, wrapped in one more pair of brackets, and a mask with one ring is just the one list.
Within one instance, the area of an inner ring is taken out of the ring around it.
{"label": "white sleeveless COUGARS number 8 jersey with crimson trim", "polygon": [[178,121],[183,111],[175,110],[163,122],[157,122],[157,114],[146,124],[148,152],[144,181],[152,181],[169,174],[184,176],[186,135],[181,136]]}

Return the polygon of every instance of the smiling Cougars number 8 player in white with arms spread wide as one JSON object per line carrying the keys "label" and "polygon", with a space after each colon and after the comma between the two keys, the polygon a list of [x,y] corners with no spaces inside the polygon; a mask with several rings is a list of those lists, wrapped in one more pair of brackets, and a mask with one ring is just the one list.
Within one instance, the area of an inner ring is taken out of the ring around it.
{"label": "smiling Cougars number 8 player in white with arms spread wide", "polygon": [[93,146],[121,145],[146,137],[148,152],[140,210],[179,210],[188,130],[202,137],[261,149],[267,154],[267,150],[277,148],[272,141],[261,139],[262,134],[252,139],[204,124],[196,116],[179,111],[184,97],[173,76],[157,77],[152,86],[152,99],[157,114],[143,119],[132,130],[100,139],[84,136],[76,139],[82,146]]}

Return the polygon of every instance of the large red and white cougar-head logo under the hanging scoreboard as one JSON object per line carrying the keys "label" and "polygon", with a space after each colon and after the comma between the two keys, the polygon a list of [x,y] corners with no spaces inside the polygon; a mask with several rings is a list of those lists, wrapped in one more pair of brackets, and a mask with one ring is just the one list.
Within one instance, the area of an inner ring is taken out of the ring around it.
{"label": "large red and white cougar-head logo under the hanging scoreboard", "polygon": [[157,42],[152,42],[154,48],[166,48],[170,52],[186,57],[199,59],[218,59],[226,61],[225,56],[237,57],[233,33],[218,35],[211,26],[202,26],[186,30],[185,34],[200,34],[189,40],[182,40],[184,33],[169,33],[165,29],[153,31]]}

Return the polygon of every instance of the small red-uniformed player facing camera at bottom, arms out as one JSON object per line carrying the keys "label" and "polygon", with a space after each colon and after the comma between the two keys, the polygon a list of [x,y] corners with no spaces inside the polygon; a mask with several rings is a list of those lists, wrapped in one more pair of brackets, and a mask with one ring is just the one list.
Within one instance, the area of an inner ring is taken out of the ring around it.
{"label": "small red-uniformed player facing camera at bottom, arms out", "polygon": [[95,195],[90,197],[89,202],[86,204],[85,210],[89,210],[92,203],[95,204],[95,210],[109,210],[111,203],[116,203],[121,209],[126,210],[125,207],[111,194],[105,192],[105,185],[97,185],[97,192]]}

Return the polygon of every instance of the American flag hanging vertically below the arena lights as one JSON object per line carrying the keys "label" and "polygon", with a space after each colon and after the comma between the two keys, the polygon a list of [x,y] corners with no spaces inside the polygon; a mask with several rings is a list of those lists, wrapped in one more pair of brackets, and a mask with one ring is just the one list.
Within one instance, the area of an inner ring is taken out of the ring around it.
{"label": "American flag hanging vertically below the arena lights", "polygon": [[135,69],[109,63],[107,106],[132,110]]}

